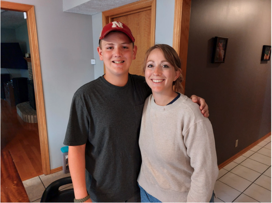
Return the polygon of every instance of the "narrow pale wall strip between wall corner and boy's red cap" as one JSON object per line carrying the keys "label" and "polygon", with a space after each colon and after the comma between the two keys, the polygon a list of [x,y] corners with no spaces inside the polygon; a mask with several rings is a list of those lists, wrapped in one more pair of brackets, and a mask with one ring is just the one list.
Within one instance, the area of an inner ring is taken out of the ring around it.
{"label": "narrow pale wall strip between wall corner and boy's red cap", "polygon": [[102,30],[102,13],[98,13],[95,15],[92,15],[92,36],[93,36],[93,52],[94,52],[94,58],[96,59],[95,66],[95,79],[98,77],[104,75],[104,64],[103,61],[99,59],[99,55],[97,52],[97,47],[99,46],[99,36],[100,32]]}

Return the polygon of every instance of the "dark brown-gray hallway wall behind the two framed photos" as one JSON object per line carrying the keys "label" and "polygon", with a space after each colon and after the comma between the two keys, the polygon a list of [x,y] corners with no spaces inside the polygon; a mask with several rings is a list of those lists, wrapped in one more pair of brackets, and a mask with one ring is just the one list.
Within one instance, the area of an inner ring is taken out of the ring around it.
{"label": "dark brown-gray hallway wall behind the two framed photos", "polygon": [[[224,64],[212,64],[215,36],[229,38]],[[193,0],[185,94],[209,105],[218,164],[271,131],[270,0]],[[235,140],[238,139],[238,147]]]}

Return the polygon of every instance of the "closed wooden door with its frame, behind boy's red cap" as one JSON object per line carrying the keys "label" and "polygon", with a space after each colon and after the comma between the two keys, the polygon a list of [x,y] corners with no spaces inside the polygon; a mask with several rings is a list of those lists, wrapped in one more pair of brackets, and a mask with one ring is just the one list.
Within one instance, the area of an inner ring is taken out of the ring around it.
{"label": "closed wooden door with its frame, behind boy's red cap", "polygon": [[[103,27],[113,21],[125,23],[135,38],[136,59],[130,66],[130,74],[144,75],[142,64],[145,52],[155,44],[155,0],[142,0],[102,13]],[[105,69],[104,69],[105,72]]]}

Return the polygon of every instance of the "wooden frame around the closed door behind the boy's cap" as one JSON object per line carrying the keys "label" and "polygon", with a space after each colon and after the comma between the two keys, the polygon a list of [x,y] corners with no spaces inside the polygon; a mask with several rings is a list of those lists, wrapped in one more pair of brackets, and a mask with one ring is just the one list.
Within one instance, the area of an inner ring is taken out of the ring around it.
{"label": "wooden frame around the closed door behind the boy's cap", "polygon": [[150,46],[153,46],[155,44],[156,0],[141,0],[138,2],[126,4],[124,6],[120,6],[118,8],[106,10],[102,12],[102,27],[110,23],[113,18],[121,17],[123,15],[134,14],[145,10],[151,10]]}

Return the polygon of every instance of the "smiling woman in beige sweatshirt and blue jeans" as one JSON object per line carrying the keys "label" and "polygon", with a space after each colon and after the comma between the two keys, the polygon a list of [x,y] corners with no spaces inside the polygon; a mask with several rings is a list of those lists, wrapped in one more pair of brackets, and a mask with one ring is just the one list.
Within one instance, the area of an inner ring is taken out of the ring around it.
{"label": "smiling woman in beige sweatshirt and blue jeans", "polygon": [[213,201],[218,176],[213,130],[199,106],[182,94],[179,56],[157,44],[147,51],[143,71],[152,94],[139,138],[141,201]]}

